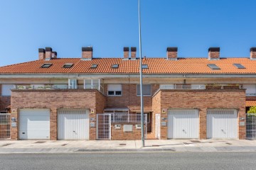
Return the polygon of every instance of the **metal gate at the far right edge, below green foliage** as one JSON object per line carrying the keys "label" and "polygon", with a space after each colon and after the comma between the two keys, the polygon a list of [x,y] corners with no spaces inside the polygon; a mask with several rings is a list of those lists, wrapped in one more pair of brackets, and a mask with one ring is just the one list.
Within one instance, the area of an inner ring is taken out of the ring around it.
{"label": "metal gate at the far right edge, below green foliage", "polygon": [[246,138],[256,139],[256,113],[246,114]]}

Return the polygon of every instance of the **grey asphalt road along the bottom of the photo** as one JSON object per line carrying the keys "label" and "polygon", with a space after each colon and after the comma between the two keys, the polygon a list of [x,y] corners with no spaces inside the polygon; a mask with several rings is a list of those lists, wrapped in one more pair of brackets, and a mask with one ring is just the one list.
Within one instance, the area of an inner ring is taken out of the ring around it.
{"label": "grey asphalt road along the bottom of the photo", "polygon": [[0,154],[0,169],[256,169],[256,152]]}

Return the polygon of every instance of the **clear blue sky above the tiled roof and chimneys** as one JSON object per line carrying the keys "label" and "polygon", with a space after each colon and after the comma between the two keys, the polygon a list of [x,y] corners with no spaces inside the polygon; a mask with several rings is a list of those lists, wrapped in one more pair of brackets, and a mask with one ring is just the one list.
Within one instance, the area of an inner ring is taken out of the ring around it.
{"label": "clear blue sky above the tiled roof and chimneys", "polygon": [[[142,55],[249,57],[256,46],[254,0],[141,0]],[[92,45],[94,57],[122,57],[139,48],[137,0],[0,1],[0,66],[38,60],[39,47],[58,57],[80,57]],[[139,49],[138,49],[139,50]],[[139,55],[139,52],[137,52]]]}

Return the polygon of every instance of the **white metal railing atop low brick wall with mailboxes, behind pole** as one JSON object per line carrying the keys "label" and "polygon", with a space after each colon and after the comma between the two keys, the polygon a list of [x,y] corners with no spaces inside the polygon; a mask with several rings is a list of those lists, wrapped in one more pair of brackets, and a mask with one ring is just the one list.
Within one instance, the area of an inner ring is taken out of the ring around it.
{"label": "white metal railing atop low brick wall with mailboxes, behind pole", "polygon": [[[112,113],[112,123],[140,123],[142,121],[140,114]],[[144,123],[146,123],[146,114],[144,114]]]}

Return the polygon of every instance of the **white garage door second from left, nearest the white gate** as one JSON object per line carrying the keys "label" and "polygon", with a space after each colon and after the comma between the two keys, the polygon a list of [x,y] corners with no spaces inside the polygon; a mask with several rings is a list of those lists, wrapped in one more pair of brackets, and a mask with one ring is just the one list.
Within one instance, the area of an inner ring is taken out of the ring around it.
{"label": "white garage door second from left, nearest the white gate", "polygon": [[88,140],[89,119],[87,110],[58,111],[58,140]]}

